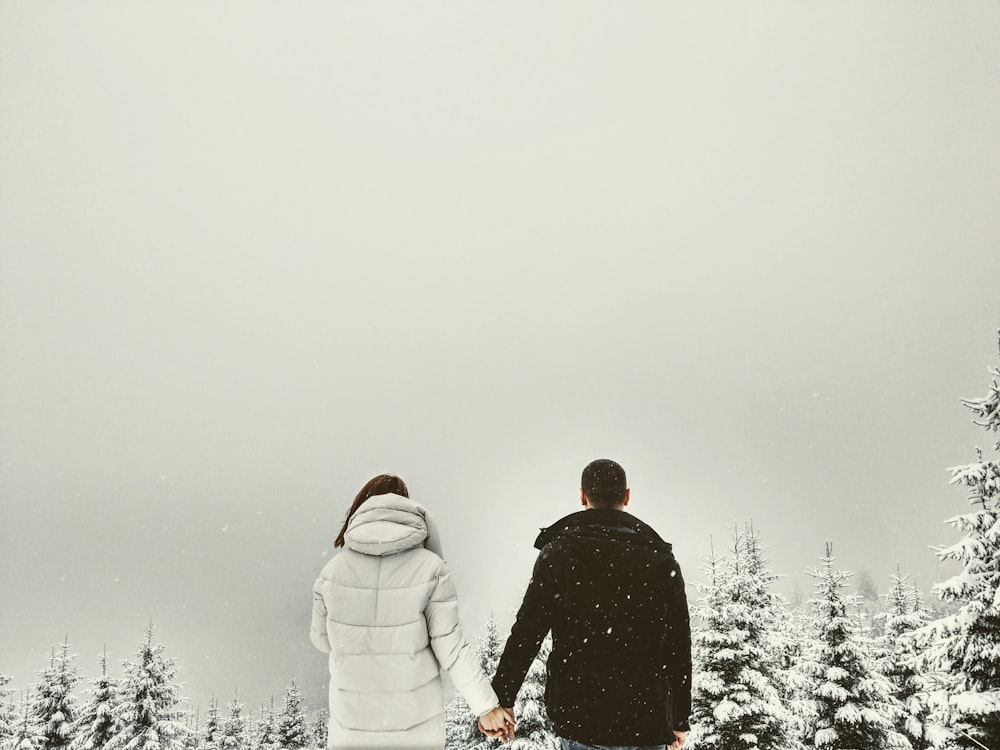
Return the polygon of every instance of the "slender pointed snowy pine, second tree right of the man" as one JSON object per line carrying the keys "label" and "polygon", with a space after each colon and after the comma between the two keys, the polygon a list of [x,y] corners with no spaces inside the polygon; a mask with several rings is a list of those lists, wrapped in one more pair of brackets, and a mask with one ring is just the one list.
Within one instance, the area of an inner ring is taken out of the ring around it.
{"label": "slender pointed snowy pine, second tree right of the man", "polygon": [[850,573],[834,567],[833,545],[827,542],[822,566],[813,568],[813,648],[803,661],[812,680],[815,724],[806,744],[818,750],[887,750],[909,748],[895,729],[900,712],[892,685],[881,674],[861,632],[860,615],[848,607],[856,597],[844,588]]}

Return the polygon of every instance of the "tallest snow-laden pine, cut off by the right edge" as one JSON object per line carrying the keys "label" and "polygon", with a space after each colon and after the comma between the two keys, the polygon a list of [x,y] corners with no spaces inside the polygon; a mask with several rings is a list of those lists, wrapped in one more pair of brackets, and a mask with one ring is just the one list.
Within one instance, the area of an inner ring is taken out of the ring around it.
{"label": "tallest snow-laden pine, cut off by the right edge", "polygon": [[[983,398],[962,399],[973,422],[1000,432],[1000,367],[990,370],[993,384]],[[958,747],[1000,748],[1000,440],[994,458],[953,467],[952,483],[969,490],[972,510],[948,520],[962,533],[950,547],[938,548],[942,560],[962,571],[934,587],[941,599],[959,605],[954,614],[924,628],[928,662],[946,673],[938,710],[955,733]]]}

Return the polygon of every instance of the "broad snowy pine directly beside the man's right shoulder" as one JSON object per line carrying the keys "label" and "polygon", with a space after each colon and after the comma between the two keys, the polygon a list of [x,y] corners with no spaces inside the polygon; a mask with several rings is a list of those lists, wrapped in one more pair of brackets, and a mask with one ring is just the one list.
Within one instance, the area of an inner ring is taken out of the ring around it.
{"label": "broad snowy pine directly beside the man's right shoulder", "polygon": [[770,591],[758,534],[733,528],[729,555],[714,551],[693,635],[699,670],[692,691],[692,748],[787,750],[798,743],[781,701],[784,679],[777,621],[783,601]]}

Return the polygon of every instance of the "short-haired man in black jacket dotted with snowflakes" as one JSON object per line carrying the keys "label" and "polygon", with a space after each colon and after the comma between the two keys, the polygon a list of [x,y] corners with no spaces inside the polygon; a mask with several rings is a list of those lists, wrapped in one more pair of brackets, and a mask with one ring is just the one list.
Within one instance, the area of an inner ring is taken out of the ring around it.
{"label": "short-haired man in black jacket dotted with snowflakes", "polygon": [[[679,748],[691,708],[691,628],[671,546],[625,512],[625,470],[583,470],[586,510],[543,529],[541,550],[493,679],[512,707],[551,629],[545,707],[562,750]],[[507,734],[486,732],[493,737]]]}

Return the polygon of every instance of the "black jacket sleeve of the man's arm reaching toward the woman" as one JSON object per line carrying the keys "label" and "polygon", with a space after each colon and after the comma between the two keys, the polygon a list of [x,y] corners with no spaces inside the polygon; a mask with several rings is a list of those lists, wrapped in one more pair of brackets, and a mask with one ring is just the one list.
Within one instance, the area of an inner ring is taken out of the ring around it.
{"label": "black jacket sleeve of the man's arm reaching toward the woman", "polygon": [[510,630],[510,638],[504,646],[503,655],[493,678],[493,689],[497,691],[500,705],[513,708],[517,693],[524,682],[524,676],[538,649],[552,627],[553,612],[558,600],[555,568],[559,559],[554,544],[542,548],[535,560],[535,567],[528,581],[528,589],[521,600],[517,619]]}

